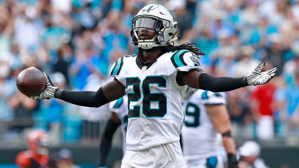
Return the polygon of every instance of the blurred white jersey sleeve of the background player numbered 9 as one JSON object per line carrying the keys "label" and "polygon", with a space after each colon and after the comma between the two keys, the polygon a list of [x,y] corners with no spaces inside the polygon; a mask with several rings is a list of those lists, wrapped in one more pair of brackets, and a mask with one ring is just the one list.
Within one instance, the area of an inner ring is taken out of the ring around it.
{"label": "blurred white jersey sleeve of the background player numbered 9", "polygon": [[202,93],[201,101],[204,105],[216,105],[225,104],[226,105],[226,95],[224,92],[211,92],[204,91]]}

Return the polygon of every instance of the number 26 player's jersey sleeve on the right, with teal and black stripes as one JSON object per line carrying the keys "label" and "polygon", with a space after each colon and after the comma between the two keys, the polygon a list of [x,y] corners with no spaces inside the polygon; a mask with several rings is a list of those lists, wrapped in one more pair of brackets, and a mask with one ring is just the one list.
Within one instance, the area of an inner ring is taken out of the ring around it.
{"label": "number 26 player's jersey sleeve on the right, with teal and black stripes", "polygon": [[190,71],[191,69],[202,71],[198,57],[189,50],[176,51],[171,57],[171,62],[175,66],[176,71]]}

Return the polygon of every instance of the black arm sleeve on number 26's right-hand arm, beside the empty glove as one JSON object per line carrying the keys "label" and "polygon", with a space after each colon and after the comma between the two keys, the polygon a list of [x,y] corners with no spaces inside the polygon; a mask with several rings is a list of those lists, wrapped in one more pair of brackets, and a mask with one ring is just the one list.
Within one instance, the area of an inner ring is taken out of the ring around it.
{"label": "black arm sleeve on number 26's right-hand arm, beside the empty glove", "polygon": [[246,77],[212,77],[209,74],[202,73],[199,75],[198,80],[201,89],[213,92],[231,91],[248,86]]}

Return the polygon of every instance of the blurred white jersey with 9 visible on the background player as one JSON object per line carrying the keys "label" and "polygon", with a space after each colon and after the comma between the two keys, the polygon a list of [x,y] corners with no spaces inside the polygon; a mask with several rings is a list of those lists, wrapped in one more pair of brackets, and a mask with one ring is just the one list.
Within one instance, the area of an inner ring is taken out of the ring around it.
{"label": "blurred white jersey with 9 visible on the background player", "polygon": [[183,103],[183,154],[187,159],[206,160],[218,155],[217,134],[205,105],[226,104],[224,93],[196,90]]}

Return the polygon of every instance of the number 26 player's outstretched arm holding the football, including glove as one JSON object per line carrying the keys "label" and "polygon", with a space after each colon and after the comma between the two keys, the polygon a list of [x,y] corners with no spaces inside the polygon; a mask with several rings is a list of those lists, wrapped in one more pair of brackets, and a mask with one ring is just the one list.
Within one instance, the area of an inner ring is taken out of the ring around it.
{"label": "number 26 player's outstretched arm holding the football, including glove", "polygon": [[44,72],[47,80],[45,89],[33,99],[57,98],[79,106],[100,107],[106,103],[123,97],[125,87],[117,79],[103,85],[98,91],[66,91],[53,85],[48,75]]}

